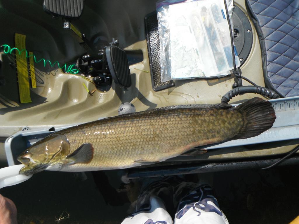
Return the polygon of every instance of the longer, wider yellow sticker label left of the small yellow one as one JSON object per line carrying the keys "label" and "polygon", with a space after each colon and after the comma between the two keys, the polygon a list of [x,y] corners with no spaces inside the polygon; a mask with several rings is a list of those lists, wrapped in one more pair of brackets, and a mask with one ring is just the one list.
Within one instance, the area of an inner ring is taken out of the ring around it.
{"label": "longer, wider yellow sticker label left of the small yellow one", "polygon": [[[22,50],[26,49],[25,45],[26,36],[23,34],[15,34],[15,47]],[[27,57],[26,52],[23,51],[21,54],[16,51],[16,66],[18,73],[19,83],[19,95],[21,103],[30,103],[30,86],[28,77]]]}

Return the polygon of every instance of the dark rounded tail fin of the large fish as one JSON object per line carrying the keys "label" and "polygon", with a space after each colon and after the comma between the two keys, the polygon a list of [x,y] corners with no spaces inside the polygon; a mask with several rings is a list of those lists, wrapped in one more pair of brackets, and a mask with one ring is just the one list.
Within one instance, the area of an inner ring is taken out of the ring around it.
{"label": "dark rounded tail fin of the large fish", "polygon": [[233,139],[246,139],[257,136],[272,127],[276,116],[271,102],[255,97],[231,108],[242,113],[244,125]]}

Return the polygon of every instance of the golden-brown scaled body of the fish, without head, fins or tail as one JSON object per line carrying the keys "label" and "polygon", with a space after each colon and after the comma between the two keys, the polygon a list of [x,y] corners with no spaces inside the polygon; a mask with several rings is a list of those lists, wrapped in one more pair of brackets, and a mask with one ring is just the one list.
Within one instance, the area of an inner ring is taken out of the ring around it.
{"label": "golden-brown scaled body of the fish, without head, fins or tail", "polygon": [[[233,119],[225,121],[227,117]],[[193,148],[194,143],[203,145],[210,138],[227,140],[237,133],[241,120],[242,115],[237,111],[215,108],[156,110],[91,122],[78,126],[76,131],[69,128],[57,134],[68,138],[70,154],[84,143],[94,147],[90,163],[69,168],[112,169],[135,166],[136,160],[163,161]],[[227,131],[223,133],[223,129]],[[193,145],[186,148],[190,144]]]}

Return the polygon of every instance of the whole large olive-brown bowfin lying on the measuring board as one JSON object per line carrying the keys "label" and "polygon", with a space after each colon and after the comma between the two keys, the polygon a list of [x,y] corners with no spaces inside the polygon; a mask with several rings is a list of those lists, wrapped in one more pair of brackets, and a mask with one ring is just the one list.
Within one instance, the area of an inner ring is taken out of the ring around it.
{"label": "whole large olive-brown bowfin lying on the measuring board", "polygon": [[25,165],[19,173],[121,169],[202,154],[202,145],[257,136],[275,119],[271,103],[260,98],[237,107],[179,105],[109,117],[36,142],[18,157]]}

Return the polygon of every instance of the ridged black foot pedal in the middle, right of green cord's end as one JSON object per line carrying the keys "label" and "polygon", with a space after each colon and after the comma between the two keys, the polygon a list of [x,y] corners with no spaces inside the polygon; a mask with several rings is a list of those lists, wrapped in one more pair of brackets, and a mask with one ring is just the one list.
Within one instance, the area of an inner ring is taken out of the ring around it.
{"label": "ridged black foot pedal in the middle, right of green cord's end", "polygon": [[117,46],[106,47],[106,57],[114,82],[123,88],[132,85],[126,52]]}

